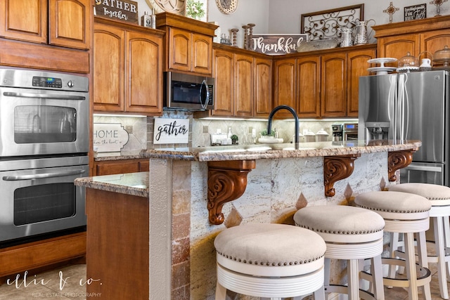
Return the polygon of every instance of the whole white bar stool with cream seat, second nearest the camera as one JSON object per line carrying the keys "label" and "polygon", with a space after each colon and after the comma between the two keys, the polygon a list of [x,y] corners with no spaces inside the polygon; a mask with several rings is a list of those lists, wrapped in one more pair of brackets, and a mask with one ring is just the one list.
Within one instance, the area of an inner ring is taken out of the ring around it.
{"label": "whole white bar stool with cream seat, second nearest the camera", "polygon": [[[328,205],[304,207],[294,221],[326,242],[325,292],[347,294],[349,300],[385,299],[381,268],[385,221],[380,215],[359,207]],[[330,259],[347,261],[347,286],[330,285]],[[371,259],[373,294],[359,287],[359,263],[364,259]]]}

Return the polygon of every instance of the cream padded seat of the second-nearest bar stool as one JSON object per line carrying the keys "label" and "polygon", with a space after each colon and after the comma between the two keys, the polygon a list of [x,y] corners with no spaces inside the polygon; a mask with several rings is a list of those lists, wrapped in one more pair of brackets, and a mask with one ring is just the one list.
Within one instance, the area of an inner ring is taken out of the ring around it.
{"label": "cream padded seat of the second-nearest bar stool", "polygon": [[304,207],[295,213],[294,221],[297,226],[319,233],[326,242],[373,241],[383,237],[385,227],[379,214],[345,205]]}

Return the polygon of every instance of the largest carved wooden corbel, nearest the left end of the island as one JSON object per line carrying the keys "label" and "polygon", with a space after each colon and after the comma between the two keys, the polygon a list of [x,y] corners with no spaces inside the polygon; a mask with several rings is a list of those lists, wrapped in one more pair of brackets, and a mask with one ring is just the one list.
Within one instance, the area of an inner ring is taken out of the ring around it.
{"label": "largest carved wooden corbel, nearest the left end of the island", "polygon": [[238,199],[247,188],[247,174],[255,169],[255,160],[208,162],[208,204],[210,223],[224,223],[222,207]]}

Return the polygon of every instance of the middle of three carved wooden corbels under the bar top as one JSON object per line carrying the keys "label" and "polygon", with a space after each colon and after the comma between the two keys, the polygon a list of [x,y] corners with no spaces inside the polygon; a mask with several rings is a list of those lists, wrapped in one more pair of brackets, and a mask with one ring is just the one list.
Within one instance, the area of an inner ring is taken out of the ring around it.
{"label": "middle of three carved wooden corbels under the bar top", "polygon": [[351,154],[323,157],[323,181],[326,197],[335,195],[333,185],[336,181],[352,175],[354,160],[360,156],[360,154]]}

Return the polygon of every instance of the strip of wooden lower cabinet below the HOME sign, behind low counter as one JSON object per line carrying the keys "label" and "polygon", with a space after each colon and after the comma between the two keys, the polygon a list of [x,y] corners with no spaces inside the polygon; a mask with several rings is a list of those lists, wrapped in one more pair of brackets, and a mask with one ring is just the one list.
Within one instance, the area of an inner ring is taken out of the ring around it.
{"label": "strip of wooden lower cabinet below the HOME sign, behind low counter", "polygon": [[95,162],[93,176],[148,172],[148,159],[118,159]]}

